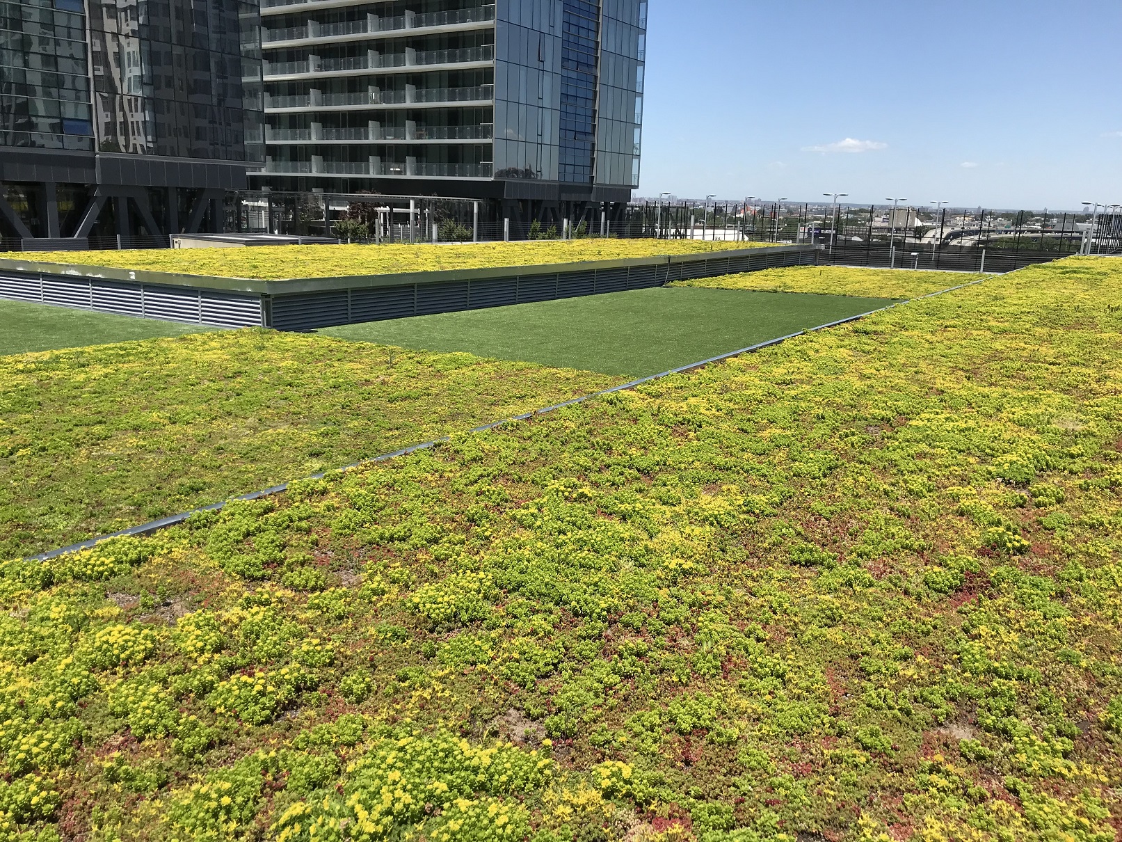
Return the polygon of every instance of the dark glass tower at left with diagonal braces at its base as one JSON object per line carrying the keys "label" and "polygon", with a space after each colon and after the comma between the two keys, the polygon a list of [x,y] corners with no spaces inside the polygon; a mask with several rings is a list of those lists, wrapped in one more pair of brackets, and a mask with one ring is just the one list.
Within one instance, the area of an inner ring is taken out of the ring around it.
{"label": "dark glass tower at left with diagonal braces at its base", "polygon": [[0,237],[221,230],[260,103],[256,2],[0,0]]}

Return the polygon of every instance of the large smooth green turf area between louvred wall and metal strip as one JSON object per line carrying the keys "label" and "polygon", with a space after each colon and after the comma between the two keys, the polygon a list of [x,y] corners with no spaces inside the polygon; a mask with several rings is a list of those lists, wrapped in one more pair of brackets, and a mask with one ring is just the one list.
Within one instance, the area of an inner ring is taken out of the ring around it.
{"label": "large smooth green turf area between louvred wall and metal strip", "polygon": [[641,377],[891,303],[666,289],[323,328],[342,339]]}

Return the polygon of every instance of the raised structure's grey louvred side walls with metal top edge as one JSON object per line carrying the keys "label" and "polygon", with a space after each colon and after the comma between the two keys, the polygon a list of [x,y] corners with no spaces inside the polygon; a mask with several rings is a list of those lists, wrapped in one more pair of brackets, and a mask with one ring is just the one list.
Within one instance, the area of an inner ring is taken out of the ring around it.
{"label": "raised structure's grey louvred side walls with metal top edge", "polygon": [[214,327],[314,330],[816,264],[820,250],[820,246],[771,246],[536,266],[287,281],[4,258],[0,259],[0,299]]}

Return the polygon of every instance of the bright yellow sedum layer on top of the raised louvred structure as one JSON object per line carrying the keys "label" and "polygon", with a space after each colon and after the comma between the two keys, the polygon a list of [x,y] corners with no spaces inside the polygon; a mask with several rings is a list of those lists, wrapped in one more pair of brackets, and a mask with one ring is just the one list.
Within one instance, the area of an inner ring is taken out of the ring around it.
{"label": "bright yellow sedum layer on top of the raised louvred structure", "polygon": [[[700,254],[770,244],[706,240],[582,239],[542,242],[385,246],[254,246],[251,248],[43,251],[35,260],[108,266],[187,275],[264,281],[383,275],[396,272],[533,266],[577,260],[614,260],[653,255]],[[26,253],[0,251],[0,259],[26,260]]]}

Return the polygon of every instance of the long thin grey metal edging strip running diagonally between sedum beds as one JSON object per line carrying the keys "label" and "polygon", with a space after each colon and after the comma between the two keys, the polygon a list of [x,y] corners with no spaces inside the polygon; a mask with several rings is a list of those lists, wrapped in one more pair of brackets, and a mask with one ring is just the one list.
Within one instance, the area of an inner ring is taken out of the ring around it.
{"label": "long thin grey metal edging strip running diagonally between sedum beds", "polygon": [[[908,304],[911,301],[920,301],[922,299],[930,299],[936,295],[942,295],[947,292],[954,292],[955,290],[962,290],[966,286],[974,286],[975,284],[981,284],[987,278],[981,278],[978,281],[971,281],[966,284],[959,284],[958,286],[950,286],[946,290],[939,290],[938,292],[931,292],[926,295],[919,295],[914,299],[909,299],[908,301],[898,301],[895,303],[889,304],[888,306],[881,306],[875,310],[870,310],[864,313],[857,313],[856,315],[848,315],[845,319],[838,319],[837,321],[827,322],[826,324],[819,324],[815,328],[807,328],[806,330],[800,330],[795,333],[788,333],[787,336],[776,337],[775,339],[769,339],[764,342],[756,342],[755,345],[749,345],[747,348],[739,348],[735,351],[728,351],[726,354],[718,354],[716,357],[709,357],[707,359],[698,360],[697,363],[690,363],[684,366],[678,366],[677,368],[671,368],[666,372],[660,372],[659,374],[651,374],[646,377],[640,377],[638,379],[631,381],[629,383],[623,383],[618,386],[613,386],[611,388],[605,388],[599,392],[592,392],[591,394],[582,395],[580,397],[573,397],[569,401],[562,401],[561,403],[554,403],[551,406],[545,406],[540,410],[533,410],[531,412],[523,413],[521,415],[514,415],[512,418],[505,418],[502,421],[493,421],[489,424],[482,424],[480,427],[473,427],[468,432],[486,432],[487,430],[494,430],[497,427],[511,423],[512,421],[527,421],[537,415],[544,415],[548,412],[553,412],[554,410],[564,409],[565,406],[573,406],[578,403],[583,403],[585,401],[591,400],[594,397],[601,397],[604,395],[611,394],[613,392],[622,392],[624,390],[635,388],[644,383],[650,383],[652,381],[661,379],[663,377],[669,377],[672,374],[682,374],[684,372],[692,372],[696,368],[701,368],[712,363],[721,363],[726,359],[733,357],[738,357],[742,354],[752,354],[762,348],[769,348],[773,345],[779,345],[780,342],[785,342],[788,339],[794,339],[795,337],[803,336],[806,333],[815,333],[819,330],[826,330],[827,328],[835,328],[838,324],[845,324],[846,322],[856,321],[857,319],[864,319],[866,315],[873,315],[874,313],[883,313],[885,310],[892,310],[893,308],[900,306],[901,304]],[[387,459],[396,459],[399,456],[407,456],[415,450],[426,450],[429,448],[435,447],[444,441],[450,441],[449,436],[441,436],[440,438],[432,439],[431,441],[423,441],[419,445],[410,445],[408,447],[403,447],[399,450],[394,450],[388,454],[381,454],[380,456],[374,456],[369,459],[361,459],[350,465],[344,465],[341,468],[332,468],[331,470],[325,470],[319,474],[312,474],[307,477],[309,479],[322,479],[329,473],[353,470],[355,468],[362,467],[364,465],[374,465],[379,461],[386,461]],[[200,506],[199,509],[192,509],[188,512],[181,512],[178,514],[169,514],[166,518],[160,518],[159,520],[149,521],[148,523],[141,523],[138,527],[130,527],[129,529],[122,529],[120,532],[112,532],[108,536],[98,536],[96,538],[90,538],[89,540],[81,541],[80,543],[72,543],[68,547],[61,547],[57,550],[49,550],[48,552],[39,552],[35,556],[28,556],[25,560],[27,561],[46,561],[47,559],[55,558],[56,556],[62,556],[67,552],[77,552],[79,550],[90,549],[91,547],[101,543],[110,538],[121,538],[126,536],[147,536],[156,532],[160,529],[167,527],[174,527],[178,523],[183,523],[187,518],[200,512],[217,512],[226,506],[227,503],[239,501],[239,500],[259,500],[261,497],[268,497],[274,494],[280,494],[288,489],[289,483],[282,483],[280,485],[274,485],[270,488],[263,488],[260,491],[250,492],[249,494],[241,494],[237,497],[231,497],[228,501],[221,503],[211,503],[206,506]]]}

